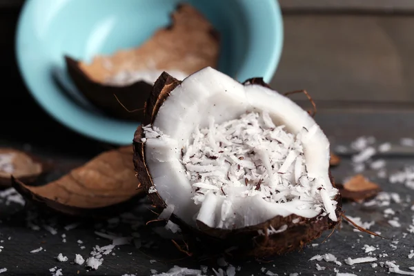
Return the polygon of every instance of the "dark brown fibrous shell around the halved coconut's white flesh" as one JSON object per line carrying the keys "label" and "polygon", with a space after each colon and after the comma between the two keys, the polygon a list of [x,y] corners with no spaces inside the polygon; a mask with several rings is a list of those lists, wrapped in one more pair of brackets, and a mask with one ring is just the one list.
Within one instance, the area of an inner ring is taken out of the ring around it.
{"label": "dark brown fibrous shell around the halved coconut's white flesh", "polygon": [[[162,103],[166,101],[170,92],[179,86],[180,83],[181,81],[171,77],[166,72],[157,79],[154,88],[152,89],[151,96],[146,101],[146,106],[144,108],[144,125],[153,123]],[[250,83],[269,87],[261,78],[248,79],[244,82],[245,85]],[[154,184],[148,167],[146,166],[145,143],[142,142],[142,138],[145,138],[145,135],[142,126],[139,126],[135,132],[133,141],[134,164],[141,188],[148,192]],[[331,172],[329,172],[329,175],[331,177]],[[332,177],[331,182],[333,186],[335,186]],[[147,195],[152,200],[154,206],[166,208],[166,203],[157,192],[147,193]],[[343,213],[341,196],[337,195],[335,200],[338,202],[335,210],[338,221],[332,221],[327,215],[323,216],[321,213],[312,219],[306,219],[297,215],[289,215],[288,217],[277,216],[262,224],[235,230],[210,228],[200,221],[197,221],[198,229],[192,230],[199,233],[198,237],[208,239],[210,242],[217,242],[215,244],[219,244],[220,248],[223,248],[223,246],[236,245],[238,247],[237,255],[239,255],[239,257],[266,257],[269,255],[280,255],[293,250],[299,250],[305,244],[308,244],[322,235],[325,230],[335,228],[335,226],[341,222]],[[182,224],[182,221],[176,217],[173,217],[172,219],[175,219],[176,223],[180,224],[181,222]],[[294,219],[299,219],[299,221],[293,223]],[[282,233],[271,235],[268,232],[270,226],[277,230],[284,225],[287,225],[288,228]],[[185,228],[188,227],[184,226],[184,229]],[[264,233],[264,235],[260,235],[259,232]]]}

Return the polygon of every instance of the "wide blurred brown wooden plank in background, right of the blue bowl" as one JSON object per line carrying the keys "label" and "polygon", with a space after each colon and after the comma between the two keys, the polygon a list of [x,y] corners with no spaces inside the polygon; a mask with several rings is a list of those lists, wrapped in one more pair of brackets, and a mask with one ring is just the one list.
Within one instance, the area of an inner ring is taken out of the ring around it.
{"label": "wide blurred brown wooden plank in background, right of the blue bowl", "polygon": [[321,101],[413,103],[413,29],[414,17],[286,15],[271,86]]}

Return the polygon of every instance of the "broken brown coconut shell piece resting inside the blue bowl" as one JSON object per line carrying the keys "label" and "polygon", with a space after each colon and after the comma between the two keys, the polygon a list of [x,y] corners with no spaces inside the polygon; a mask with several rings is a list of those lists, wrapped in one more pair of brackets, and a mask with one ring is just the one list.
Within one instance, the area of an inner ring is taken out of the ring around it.
{"label": "broken brown coconut shell piece resting inside the blue bowl", "polygon": [[108,115],[141,121],[142,112],[128,110],[144,106],[161,72],[184,79],[206,66],[217,66],[218,57],[218,32],[200,12],[184,4],[172,13],[171,26],[157,30],[138,48],[97,56],[90,64],[66,57],[66,67],[92,104]]}

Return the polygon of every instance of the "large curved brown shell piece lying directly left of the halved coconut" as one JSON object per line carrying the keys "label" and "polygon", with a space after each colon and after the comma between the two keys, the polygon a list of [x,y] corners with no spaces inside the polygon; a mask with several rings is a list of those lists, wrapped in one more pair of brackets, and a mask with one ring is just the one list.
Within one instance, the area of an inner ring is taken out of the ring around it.
{"label": "large curved brown shell piece lying directly left of the halved coconut", "polygon": [[61,213],[95,215],[141,193],[131,161],[132,147],[123,147],[103,152],[49,184],[28,186],[13,179],[13,186],[26,199]]}

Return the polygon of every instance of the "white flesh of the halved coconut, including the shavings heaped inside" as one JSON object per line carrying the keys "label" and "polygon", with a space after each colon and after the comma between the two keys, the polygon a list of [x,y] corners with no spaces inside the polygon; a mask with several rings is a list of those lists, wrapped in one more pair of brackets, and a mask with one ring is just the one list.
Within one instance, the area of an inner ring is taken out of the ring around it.
{"label": "white flesh of the halved coconut, including the shavings heaped inside", "polygon": [[154,188],[190,226],[254,226],[278,215],[337,221],[329,142],[279,93],[213,68],[190,75],[144,126]]}

